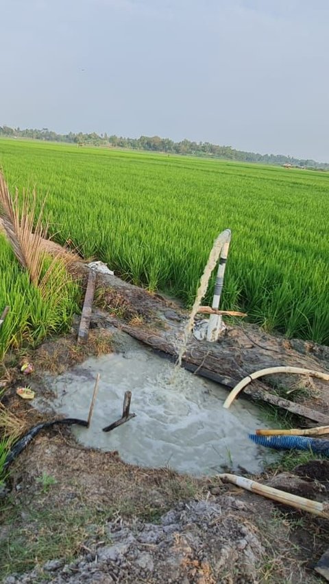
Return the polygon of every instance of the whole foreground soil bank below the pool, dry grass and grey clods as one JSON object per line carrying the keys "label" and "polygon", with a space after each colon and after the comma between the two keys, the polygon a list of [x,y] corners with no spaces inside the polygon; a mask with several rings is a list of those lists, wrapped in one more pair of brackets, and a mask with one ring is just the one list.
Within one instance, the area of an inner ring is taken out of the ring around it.
{"label": "whole foreground soil bank below the pool, dry grass and grey clods", "polygon": [[3,581],[311,583],[329,544],[325,523],[216,477],[130,466],[53,432],[12,469]]}

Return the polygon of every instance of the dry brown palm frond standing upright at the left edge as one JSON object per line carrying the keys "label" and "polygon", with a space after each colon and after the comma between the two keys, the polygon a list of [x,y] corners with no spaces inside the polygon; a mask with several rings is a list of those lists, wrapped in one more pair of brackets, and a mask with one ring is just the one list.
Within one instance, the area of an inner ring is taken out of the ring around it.
{"label": "dry brown palm frond standing upright at the left edge", "polygon": [[[36,218],[36,192],[33,192],[32,205],[27,194],[23,192],[21,205],[18,204],[18,193],[12,198],[3,175],[0,173],[0,218],[3,228],[12,246],[12,250],[21,266],[29,272],[31,282],[45,293],[46,285],[59,259],[64,265],[73,261],[73,255],[63,253],[60,249],[53,256],[51,264],[44,275],[45,238],[48,226],[42,227],[42,210]],[[34,227],[35,226],[35,227]]]}

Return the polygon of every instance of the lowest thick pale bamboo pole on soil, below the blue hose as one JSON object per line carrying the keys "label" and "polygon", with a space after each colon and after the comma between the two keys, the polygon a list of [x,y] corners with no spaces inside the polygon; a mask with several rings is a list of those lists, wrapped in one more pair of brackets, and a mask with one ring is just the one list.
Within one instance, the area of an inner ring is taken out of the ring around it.
{"label": "lowest thick pale bamboo pole on soil, below the blue hose", "polygon": [[279,489],[273,489],[273,487],[261,485],[260,483],[256,483],[256,481],[246,479],[245,477],[239,477],[239,475],[236,474],[219,474],[219,478],[224,482],[228,481],[228,483],[233,483],[234,485],[242,487],[252,493],[278,501],[278,503],[282,503],[282,505],[289,505],[300,511],[308,511],[308,513],[313,513],[313,515],[329,519],[328,503],[319,503],[319,501],[313,501],[306,499],[305,497],[280,491]]}

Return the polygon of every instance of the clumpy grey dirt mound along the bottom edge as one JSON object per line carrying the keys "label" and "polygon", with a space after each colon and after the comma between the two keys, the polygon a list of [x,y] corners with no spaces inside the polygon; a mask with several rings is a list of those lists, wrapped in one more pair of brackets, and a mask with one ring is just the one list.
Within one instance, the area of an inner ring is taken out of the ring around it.
{"label": "clumpy grey dirt mound along the bottom edge", "polygon": [[5,583],[256,583],[266,550],[247,520],[251,511],[251,505],[221,496],[182,503],[160,524],[110,522],[110,546],[66,565],[49,561],[43,570],[9,576]]}

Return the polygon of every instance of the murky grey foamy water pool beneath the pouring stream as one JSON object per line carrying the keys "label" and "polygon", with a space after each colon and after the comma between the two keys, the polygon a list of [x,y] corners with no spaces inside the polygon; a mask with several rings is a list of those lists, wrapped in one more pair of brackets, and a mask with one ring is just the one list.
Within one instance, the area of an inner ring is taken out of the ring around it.
{"label": "murky grey foamy water pool beneath the pouring stream", "polygon": [[[131,464],[195,475],[216,474],[223,466],[249,472],[263,468],[261,449],[248,440],[256,427],[266,427],[258,409],[243,399],[223,409],[226,390],[182,369],[175,383],[168,383],[173,365],[138,342],[124,354],[92,357],[62,375],[48,375],[55,394],[48,405],[86,419],[97,372],[101,379],[90,428],[73,427],[85,446],[119,450]],[[132,391],[130,411],[136,418],[105,433],[102,428],[121,417],[125,390]]]}

